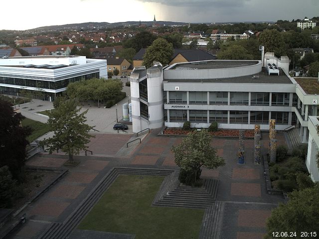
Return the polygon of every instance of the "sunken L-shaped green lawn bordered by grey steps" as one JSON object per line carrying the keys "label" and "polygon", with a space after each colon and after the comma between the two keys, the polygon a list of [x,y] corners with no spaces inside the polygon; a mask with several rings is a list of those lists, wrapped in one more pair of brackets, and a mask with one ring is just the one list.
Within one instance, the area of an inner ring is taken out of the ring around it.
{"label": "sunken L-shaped green lawn bordered by grey steps", "polygon": [[136,239],[197,239],[203,209],[151,206],[163,179],[120,175],[78,229],[135,234]]}

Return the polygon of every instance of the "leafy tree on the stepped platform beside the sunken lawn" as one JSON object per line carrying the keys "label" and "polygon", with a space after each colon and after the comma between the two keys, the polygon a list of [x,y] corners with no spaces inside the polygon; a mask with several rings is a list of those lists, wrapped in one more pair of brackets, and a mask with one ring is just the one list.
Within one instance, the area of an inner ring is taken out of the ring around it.
{"label": "leafy tree on the stepped platform beside the sunken lawn", "polygon": [[[212,136],[206,129],[190,132],[179,145],[173,145],[171,151],[175,163],[181,168],[181,173],[191,175],[189,184],[194,185],[201,174],[201,167],[214,169],[225,165],[225,160],[219,157],[217,150],[211,146]],[[181,174],[180,174],[181,176]]]}

